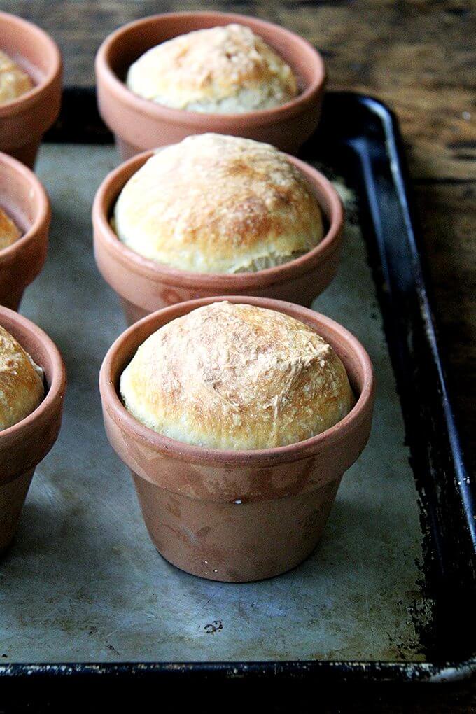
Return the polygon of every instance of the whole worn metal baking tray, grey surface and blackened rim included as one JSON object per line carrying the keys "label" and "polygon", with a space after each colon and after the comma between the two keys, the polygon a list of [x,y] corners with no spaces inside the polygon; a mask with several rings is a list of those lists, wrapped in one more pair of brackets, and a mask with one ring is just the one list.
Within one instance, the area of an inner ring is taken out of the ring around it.
{"label": "whole worn metal baking tray, grey surface and blackened rim included", "polygon": [[302,152],[333,174],[348,208],[343,265],[314,306],[373,358],[373,435],[312,557],[279,578],[233,585],[160,558],[103,433],[98,369],[124,323],[92,256],[93,193],[118,163],[95,106],[92,91],[66,91],[37,166],[54,221],[46,267],[21,310],[61,347],[69,391],[59,442],[1,563],[0,676],[322,685],[471,673],[474,491],[392,114],[368,97],[330,93]]}

